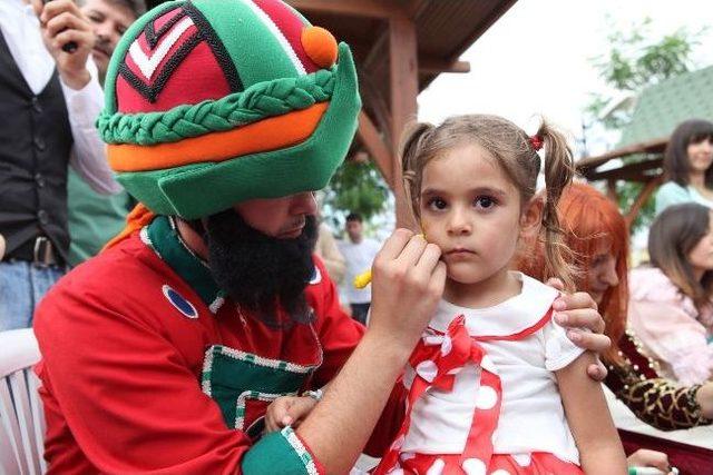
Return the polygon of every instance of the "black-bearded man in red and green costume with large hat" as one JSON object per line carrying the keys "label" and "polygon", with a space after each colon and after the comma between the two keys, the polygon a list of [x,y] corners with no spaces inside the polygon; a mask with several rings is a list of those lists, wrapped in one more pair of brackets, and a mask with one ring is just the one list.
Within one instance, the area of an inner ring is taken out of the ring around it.
{"label": "black-bearded man in red and green costume with large hat", "polygon": [[[312,191],[360,109],[349,48],[279,0],[179,0],[131,26],[105,89],[109,162],[144,206],[39,309],[49,473],[345,473],[383,453],[445,269],[397,230],[365,330],[312,257]],[[570,324],[596,329],[580,297]],[[270,402],[326,383],[262,436]]]}

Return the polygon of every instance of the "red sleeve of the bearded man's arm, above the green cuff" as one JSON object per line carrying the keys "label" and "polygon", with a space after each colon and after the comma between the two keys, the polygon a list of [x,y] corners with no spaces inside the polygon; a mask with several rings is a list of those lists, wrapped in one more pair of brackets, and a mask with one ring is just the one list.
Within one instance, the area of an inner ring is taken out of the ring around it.
{"label": "red sleeve of the bearded man's arm, above the green cuff", "polygon": [[52,467],[76,468],[84,455],[101,473],[238,472],[248,438],[226,427],[158,330],[90,296],[52,297],[35,325],[56,410],[48,413],[48,442],[66,431],[78,446],[67,444],[67,455],[56,446]]}

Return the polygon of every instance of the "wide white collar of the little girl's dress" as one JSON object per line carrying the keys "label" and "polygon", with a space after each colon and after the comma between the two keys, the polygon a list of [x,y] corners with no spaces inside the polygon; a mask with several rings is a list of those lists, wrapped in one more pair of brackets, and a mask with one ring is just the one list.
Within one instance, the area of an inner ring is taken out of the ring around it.
{"label": "wide white collar of the little girl's dress", "polygon": [[559,291],[522,273],[512,274],[522,283],[518,295],[487,308],[460,307],[441,299],[429,327],[445,333],[451,320],[459,315],[466,317],[466,328],[472,336],[507,336],[537,324],[559,296]]}

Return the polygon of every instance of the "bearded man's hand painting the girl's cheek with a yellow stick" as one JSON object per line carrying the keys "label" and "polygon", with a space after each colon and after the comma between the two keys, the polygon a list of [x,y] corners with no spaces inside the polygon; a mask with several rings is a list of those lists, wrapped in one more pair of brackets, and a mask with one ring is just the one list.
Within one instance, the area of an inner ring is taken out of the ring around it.
{"label": "bearded man's hand painting the girl's cheek with a yellow stick", "polygon": [[446,285],[441,250],[408,229],[397,229],[377,255],[372,268],[369,330],[390,345],[413,349],[433,316]]}

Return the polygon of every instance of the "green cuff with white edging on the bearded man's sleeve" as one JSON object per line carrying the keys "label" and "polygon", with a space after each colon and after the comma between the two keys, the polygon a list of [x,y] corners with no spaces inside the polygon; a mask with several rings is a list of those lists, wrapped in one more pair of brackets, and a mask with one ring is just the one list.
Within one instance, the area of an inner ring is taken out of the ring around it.
{"label": "green cuff with white edging on the bearded man's sleeve", "polygon": [[267,434],[243,457],[245,475],[319,475],[321,469],[297,434],[287,426]]}

